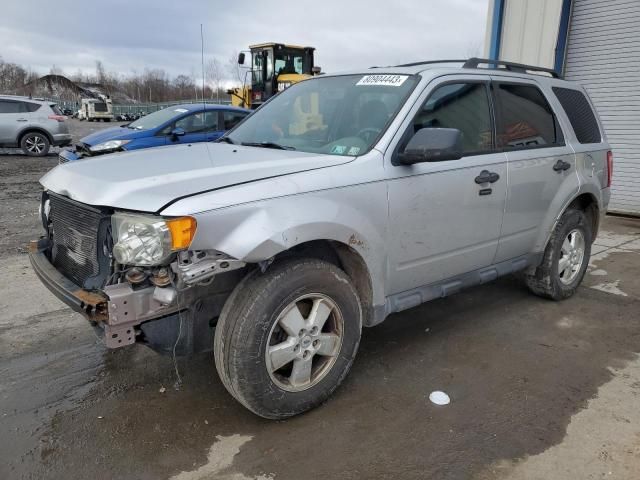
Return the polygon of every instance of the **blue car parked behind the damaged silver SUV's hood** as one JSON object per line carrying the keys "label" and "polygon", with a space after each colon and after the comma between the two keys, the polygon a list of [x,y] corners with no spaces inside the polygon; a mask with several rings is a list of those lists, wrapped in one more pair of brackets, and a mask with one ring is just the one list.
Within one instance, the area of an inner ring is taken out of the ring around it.
{"label": "blue car parked behind the damaged silver SUV's hood", "polygon": [[71,149],[62,150],[58,159],[66,163],[124,150],[208,142],[221,137],[249,113],[251,110],[227,105],[176,105],[135,122],[92,133]]}

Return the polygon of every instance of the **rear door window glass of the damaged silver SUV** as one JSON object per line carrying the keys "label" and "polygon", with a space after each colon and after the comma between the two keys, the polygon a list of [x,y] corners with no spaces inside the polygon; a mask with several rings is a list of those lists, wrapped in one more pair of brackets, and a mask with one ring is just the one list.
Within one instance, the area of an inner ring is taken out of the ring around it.
{"label": "rear door window glass of the damaged silver SUV", "polygon": [[564,137],[551,106],[533,85],[495,83],[498,148],[564,145]]}

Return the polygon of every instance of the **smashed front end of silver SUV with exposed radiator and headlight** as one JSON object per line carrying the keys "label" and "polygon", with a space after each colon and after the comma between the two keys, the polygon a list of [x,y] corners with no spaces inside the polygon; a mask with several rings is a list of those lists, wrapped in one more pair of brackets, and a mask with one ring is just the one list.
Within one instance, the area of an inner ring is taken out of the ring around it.
{"label": "smashed front end of silver SUV with exposed radiator and headlight", "polygon": [[212,323],[238,281],[219,274],[245,263],[189,250],[195,218],[95,207],[47,191],[40,216],[46,234],[30,245],[36,274],[104,332],[107,347],[137,341],[165,353],[211,349]]}

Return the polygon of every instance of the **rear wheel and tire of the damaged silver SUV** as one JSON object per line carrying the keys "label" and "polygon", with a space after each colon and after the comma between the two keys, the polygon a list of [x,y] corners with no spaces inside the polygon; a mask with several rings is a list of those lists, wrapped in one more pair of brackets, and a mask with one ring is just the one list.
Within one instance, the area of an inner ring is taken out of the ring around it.
{"label": "rear wheel and tire of the damaged silver SUV", "polygon": [[[533,274],[525,274],[525,282],[533,293],[564,300],[576,292],[591,256],[590,225],[582,210],[570,209],[562,214],[551,233],[542,263]],[[576,246],[571,245],[572,239]]]}

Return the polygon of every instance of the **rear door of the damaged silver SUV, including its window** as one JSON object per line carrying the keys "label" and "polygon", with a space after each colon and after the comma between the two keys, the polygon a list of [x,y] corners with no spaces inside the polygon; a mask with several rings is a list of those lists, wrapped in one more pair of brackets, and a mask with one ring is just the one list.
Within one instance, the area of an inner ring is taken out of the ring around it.
{"label": "rear door of the damaged silver SUV, including its window", "polygon": [[[509,165],[507,204],[496,262],[538,251],[545,217],[578,190],[575,155],[536,82],[493,77],[497,147]],[[560,195],[560,192],[562,194]]]}

